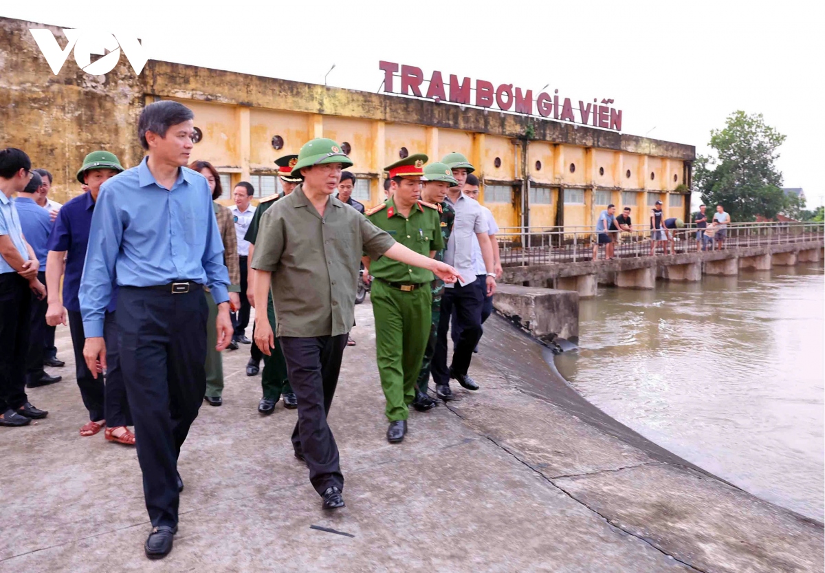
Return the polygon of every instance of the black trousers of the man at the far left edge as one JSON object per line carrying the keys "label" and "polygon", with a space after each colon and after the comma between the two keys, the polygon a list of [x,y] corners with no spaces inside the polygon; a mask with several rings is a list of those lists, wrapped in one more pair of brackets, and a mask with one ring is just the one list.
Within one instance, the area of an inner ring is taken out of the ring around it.
{"label": "black trousers of the man at the far left edge", "polygon": [[16,272],[0,274],[0,413],[26,404],[31,290]]}

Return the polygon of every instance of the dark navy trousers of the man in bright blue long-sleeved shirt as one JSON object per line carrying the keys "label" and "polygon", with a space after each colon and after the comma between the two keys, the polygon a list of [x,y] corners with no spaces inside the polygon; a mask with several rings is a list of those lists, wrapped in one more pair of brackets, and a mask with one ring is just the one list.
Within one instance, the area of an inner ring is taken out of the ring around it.
{"label": "dark navy trousers of the man in bright blue long-sleeved shirt", "polygon": [[[152,525],[177,525],[177,457],[206,393],[203,290],[120,287],[120,369]],[[214,328],[214,326],[212,326]]]}

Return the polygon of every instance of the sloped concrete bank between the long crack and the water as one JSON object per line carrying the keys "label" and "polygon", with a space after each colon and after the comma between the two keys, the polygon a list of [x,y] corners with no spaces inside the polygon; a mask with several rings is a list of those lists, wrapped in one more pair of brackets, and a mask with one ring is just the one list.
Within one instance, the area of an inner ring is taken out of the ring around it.
{"label": "sloped concrete bank between the long crack and the water", "polygon": [[450,409],[611,525],[695,571],[823,571],[823,523],[760,500],[610,418],[568,385],[549,348],[507,320],[488,320],[480,351],[523,403],[462,400]]}

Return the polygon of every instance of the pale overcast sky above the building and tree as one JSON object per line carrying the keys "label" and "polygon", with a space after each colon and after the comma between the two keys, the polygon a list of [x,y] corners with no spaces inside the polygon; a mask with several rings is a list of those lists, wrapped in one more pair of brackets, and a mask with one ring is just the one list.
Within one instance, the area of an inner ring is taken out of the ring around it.
{"label": "pale overcast sky above the building and tree", "polygon": [[[785,187],[823,204],[825,2],[3,2],[0,15],[125,31],[152,59],[375,92],[380,59],[445,78],[612,98],[625,133],[695,144],[735,110],[787,135]],[[62,42],[62,40],[61,40]],[[68,64],[74,64],[69,59]]]}

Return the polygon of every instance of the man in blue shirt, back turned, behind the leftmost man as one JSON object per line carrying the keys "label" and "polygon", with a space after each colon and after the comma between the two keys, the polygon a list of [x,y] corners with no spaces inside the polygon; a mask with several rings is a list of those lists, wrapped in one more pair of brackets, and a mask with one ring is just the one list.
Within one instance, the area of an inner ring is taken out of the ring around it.
{"label": "man in blue shirt, back turned, behind the leftmost man", "polygon": [[[35,257],[40,262],[37,268],[37,280],[46,282],[46,253],[49,249],[49,234],[52,222],[49,212],[35,202],[35,193],[40,188],[40,173],[31,173],[31,180],[26,188],[17,193],[14,206],[20,216],[20,225],[26,242],[31,244]],[[36,388],[59,382],[61,376],[50,376],[43,369],[46,348],[46,306],[45,299],[31,295],[31,326],[29,330],[29,352],[26,354],[26,386]]]}

